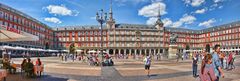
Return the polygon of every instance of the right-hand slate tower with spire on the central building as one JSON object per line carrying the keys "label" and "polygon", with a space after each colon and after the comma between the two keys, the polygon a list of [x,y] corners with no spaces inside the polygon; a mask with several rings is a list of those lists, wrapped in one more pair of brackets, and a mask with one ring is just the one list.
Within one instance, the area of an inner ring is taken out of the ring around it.
{"label": "right-hand slate tower with spire on the central building", "polygon": [[158,16],[157,16],[157,21],[156,21],[156,23],[155,23],[155,27],[157,28],[157,29],[163,29],[163,22],[162,22],[162,20],[161,20],[161,13],[160,13],[160,5],[159,5],[159,9],[158,9]]}

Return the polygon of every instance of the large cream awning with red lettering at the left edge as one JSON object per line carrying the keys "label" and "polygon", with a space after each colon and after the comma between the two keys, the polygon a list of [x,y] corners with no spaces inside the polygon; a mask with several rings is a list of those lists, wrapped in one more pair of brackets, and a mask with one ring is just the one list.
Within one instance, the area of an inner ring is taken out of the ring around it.
{"label": "large cream awning with red lettering at the left edge", "polygon": [[37,40],[39,40],[38,36],[17,30],[15,28],[0,25],[0,42]]}

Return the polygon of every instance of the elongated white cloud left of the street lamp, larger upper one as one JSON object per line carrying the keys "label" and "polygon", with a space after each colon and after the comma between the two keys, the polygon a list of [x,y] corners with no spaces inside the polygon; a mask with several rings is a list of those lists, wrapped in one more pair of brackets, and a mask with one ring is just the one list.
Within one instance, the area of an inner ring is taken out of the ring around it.
{"label": "elongated white cloud left of the street lamp, larger upper one", "polygon": [[59,5],[49,5],[46,7],[46,9],[49,11],[50,14],[54,14],[54,15],[77,16],[79,13],[76,10],[68,9],[64,5],[60,5],[60,6]]}

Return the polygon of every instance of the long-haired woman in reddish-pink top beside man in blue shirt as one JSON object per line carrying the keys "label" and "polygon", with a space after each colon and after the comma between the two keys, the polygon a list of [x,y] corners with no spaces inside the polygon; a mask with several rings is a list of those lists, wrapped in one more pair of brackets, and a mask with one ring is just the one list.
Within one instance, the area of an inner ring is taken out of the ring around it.
{"label": "long-haired woman in reddish-pink top beside man in blue shirt", "polygon": [[200,71],[199,77],[201,81],[215,81],[217,79],[214,73],[211,54],[207,54],[202,60],[202,67]]}

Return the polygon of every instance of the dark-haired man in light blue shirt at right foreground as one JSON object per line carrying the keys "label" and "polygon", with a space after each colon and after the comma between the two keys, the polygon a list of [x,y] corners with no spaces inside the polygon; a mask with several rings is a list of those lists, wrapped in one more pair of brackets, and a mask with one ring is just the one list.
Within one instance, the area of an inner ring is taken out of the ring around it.
{"label": "dark-haired man in light blue shirt at right foreground", "polygon": [[222,77],[224,78],[224,73],[223,70],[221,68],[221,62],[219,59],[219,54],[220,54],[220,45],[216,44],[214,46],[214,52],[212,54],[212,63],[214,66],[214,73],[215,76],[217,77],[217,79],[215,81],[219,81],[219,78]]}

